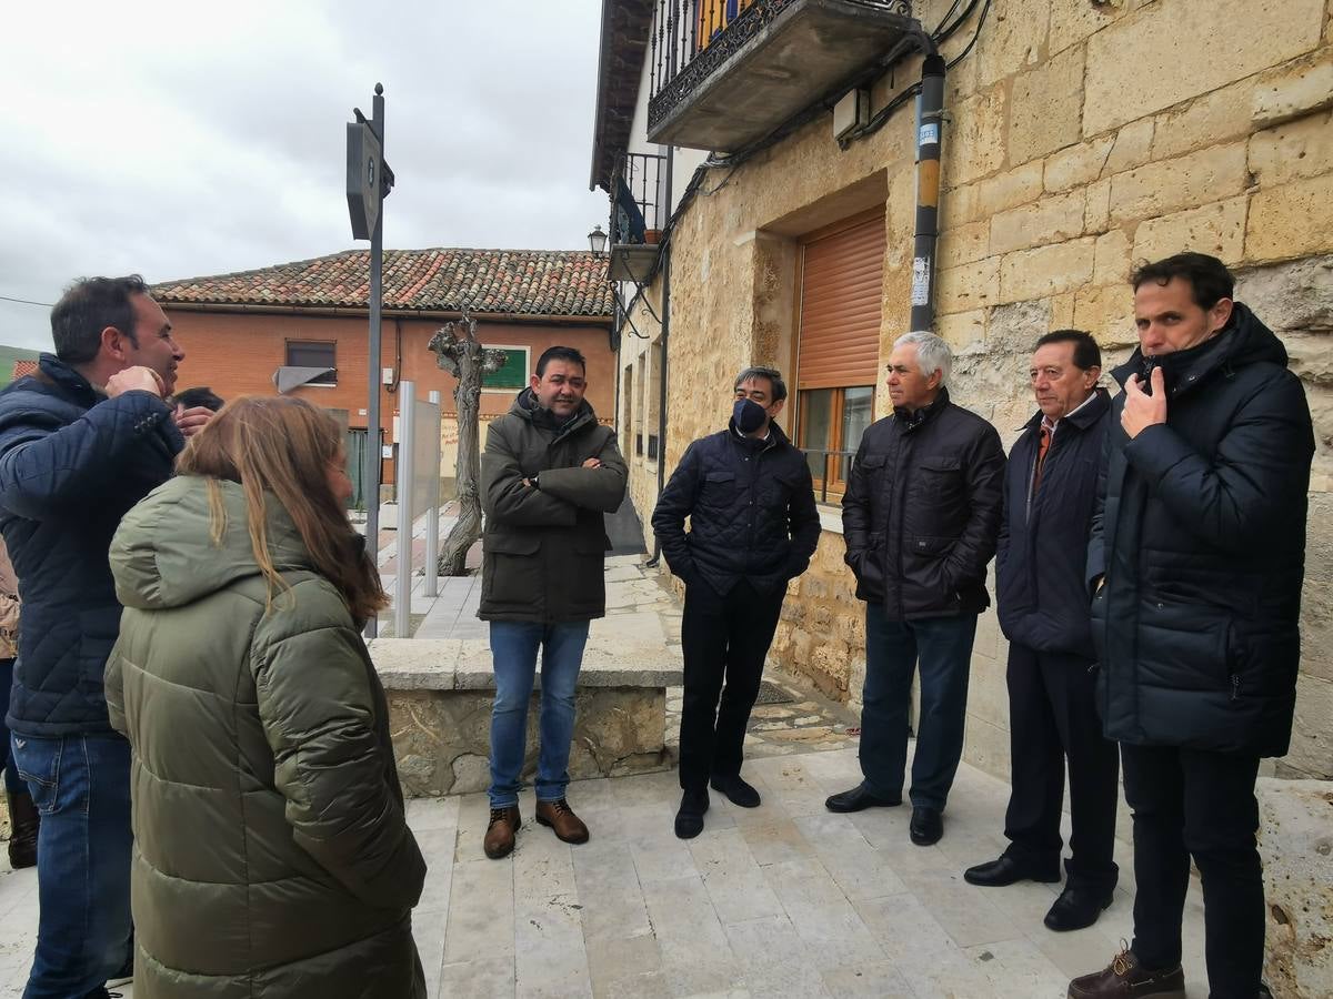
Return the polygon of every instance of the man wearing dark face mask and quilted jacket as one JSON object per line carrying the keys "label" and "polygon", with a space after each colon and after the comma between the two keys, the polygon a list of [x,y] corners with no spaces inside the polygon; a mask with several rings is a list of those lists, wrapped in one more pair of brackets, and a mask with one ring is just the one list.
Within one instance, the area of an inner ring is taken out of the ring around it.
{"label": "man wearing dark face mask and quilted jacket", "polygon": [[681,839],[702,831],[709,785],[741,807],[760,803],[740,775],[745,727],[786,582],[820,539],[810,469],[773,422],[786,400],[782,376],[746,368],[734,390],[730,425],[689,445],[653,511],[666,562],[685,582]]}

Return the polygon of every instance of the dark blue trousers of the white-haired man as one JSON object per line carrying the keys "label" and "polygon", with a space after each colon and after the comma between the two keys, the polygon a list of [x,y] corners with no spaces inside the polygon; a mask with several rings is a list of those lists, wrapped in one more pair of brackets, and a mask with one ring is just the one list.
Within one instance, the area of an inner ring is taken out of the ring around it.
{"label": "dark blue trousers of the white-haired man", "polygon": [[944,810],[962,758],[968,674],[977,615],[890,621],[865,606],[861,773],[877,798],[902,797],[912,674],[921,663],[921,715],[912,761],[912,805]]}

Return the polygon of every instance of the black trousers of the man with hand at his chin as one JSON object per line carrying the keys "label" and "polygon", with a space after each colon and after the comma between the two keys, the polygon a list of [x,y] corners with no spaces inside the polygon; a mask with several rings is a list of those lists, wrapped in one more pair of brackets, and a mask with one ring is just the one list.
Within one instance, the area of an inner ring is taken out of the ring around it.
{"label": "black trousers of the man with hand at his chin", "polygon": [[1133,951],[1149,968],[1180,964],[1189,858],[1204,882],[1204,952],[1212,999],[1258,995],[1264,871],[1254,834],[1258,757],[1174,746],[1121,746],[1134,814]]}

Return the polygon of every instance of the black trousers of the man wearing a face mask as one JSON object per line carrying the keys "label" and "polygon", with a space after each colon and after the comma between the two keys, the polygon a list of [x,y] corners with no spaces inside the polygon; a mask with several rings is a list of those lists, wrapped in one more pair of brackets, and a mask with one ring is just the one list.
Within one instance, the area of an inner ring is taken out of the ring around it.
{"label": "black trousers of the man wearing a face mask", "polygon": [[702,581],[685,587],[681,787],[701,789],[709,774],[740,773],[745,727],[785,595],[785,587],[760,593],[745,579],[725,597]]}

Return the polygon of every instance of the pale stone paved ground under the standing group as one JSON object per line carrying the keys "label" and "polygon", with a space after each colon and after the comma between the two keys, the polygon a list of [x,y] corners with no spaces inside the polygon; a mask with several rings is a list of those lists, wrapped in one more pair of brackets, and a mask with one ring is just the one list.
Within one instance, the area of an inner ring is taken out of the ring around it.
{"label": "pale stone paved ground under the standing group", "polygon": [[[674,598],[639,562],[608,561],[609,613],[596,630],[678,645]],[[433,629],[464,637],[453,629],[475,621],[475,581],[451,585],[423,610],[423,627],[433,618]],[[431,868],[415,920],[431,995],[1057,999],[1130,935],[1124,842],[1114,903],[1076,934],[1041,924],[1058,886],[962,880],[965,867],[1004,848],[1008,786],[973,767],[960,769],[933,847],[908,840],[906,809],[828,813],[824,798],[860,779],[854,719],[794,678],[770,679],[792,699],[760,705],[746,738],[744,773],[762,806],[713,795],[704,834],[688,843],[672,834],[673,771],[575,782],[569,801],[592,827],[577,847],[531,821],[529,791],[519,848],[499,862],[481,852],[485,795],[411,802]],[[669,737],[678,703],[673,689]],[[35,872],[0,870],[0,999],[23,991],[36,919]],[[1197,880],[1185,954],[1190,995],[1204,996]]]}

